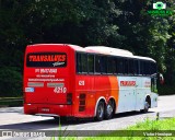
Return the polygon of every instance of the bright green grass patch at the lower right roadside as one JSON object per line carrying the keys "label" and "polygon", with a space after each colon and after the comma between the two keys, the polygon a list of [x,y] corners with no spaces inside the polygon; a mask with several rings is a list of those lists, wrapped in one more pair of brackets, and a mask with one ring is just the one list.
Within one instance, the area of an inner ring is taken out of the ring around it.
{"label": "bright green grass patch at the lower right roadside", "polygon": [[[160,130],[160,131],[158,131]],[[149,120],[147,119],[143,122],[138,122],[135,126],[130,126],[124,131],[113,131],[106,135],[100,135],[98,137],[88,137],[83,140],[175,140],[174,137],[148,137],[144,136],[143,132],[167,132],[166,130],[175,130],[175,118],[171,119],[163,119],[163,120]],[[126,137],[116,137],[118,135],[122,136],[127,135]],[[168,132],[170,133],[170,132]],[[175,132],[173,132],[175,135]],[[136,137],[133,137],[136,136]]]}

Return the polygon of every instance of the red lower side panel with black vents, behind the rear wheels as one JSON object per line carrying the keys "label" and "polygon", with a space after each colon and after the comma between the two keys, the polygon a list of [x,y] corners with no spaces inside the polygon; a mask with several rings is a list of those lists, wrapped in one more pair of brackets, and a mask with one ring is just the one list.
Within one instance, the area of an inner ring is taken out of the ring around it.
{"label": "red lower side panel with black vents, behind the rear wheels", "polygon": [[75,117],[93,117],[95,106],[94,75],[78,74],[75,77]]}

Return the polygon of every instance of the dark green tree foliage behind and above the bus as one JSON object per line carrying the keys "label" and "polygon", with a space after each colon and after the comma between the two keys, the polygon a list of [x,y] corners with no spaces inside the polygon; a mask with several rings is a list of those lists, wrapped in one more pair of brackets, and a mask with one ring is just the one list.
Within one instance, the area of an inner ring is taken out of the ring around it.
{"label": "dark green tree foliage behind and above the bus", "polygon": [[[175,7],[173,0],[166,5]],[[152,2],[143,0],[0,0],[0,96],[22,95],[25,46],[38,43],[128,49],[155,59],[173,85],[175,15],[151,16],[149,9]]]}

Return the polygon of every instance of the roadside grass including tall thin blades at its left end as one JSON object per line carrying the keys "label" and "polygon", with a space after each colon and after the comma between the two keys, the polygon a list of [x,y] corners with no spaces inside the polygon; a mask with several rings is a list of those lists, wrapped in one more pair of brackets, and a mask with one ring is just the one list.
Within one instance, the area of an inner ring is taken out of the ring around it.
{"label": "roadside grass including tall thin blades at its left end", "polygon": [[[59,125],[59,130],[61,125]],[[174,140],[174,137],[149,137],[148,133],[167,133],[175,135],[175,118],[166,118],[161,120],[145,119],[122,130],[114,130],[109,133],[102,133],[97,137],[69,137],[66,130],[59,137],[52,137],[49,140]],[[89,133],[90,135],[90,133]],[[145,135],[145,136],[144,136]],[[61,137],[62,136],[62,137]]]}

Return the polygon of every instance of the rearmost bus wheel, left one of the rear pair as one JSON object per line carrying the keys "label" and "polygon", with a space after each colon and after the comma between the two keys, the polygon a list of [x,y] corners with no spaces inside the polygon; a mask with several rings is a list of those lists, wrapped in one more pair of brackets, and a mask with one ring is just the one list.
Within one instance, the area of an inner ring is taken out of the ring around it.
{"label": "rearmost bus wheel, left one of the rear pair", "polygon": [[97,121],[102,121],[104,119],[104,114],[105,114],[104,112],[105,112],[104,102],[100,101],[100,103],[97,104],[96,117],[95,117]]}

